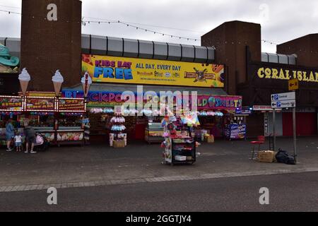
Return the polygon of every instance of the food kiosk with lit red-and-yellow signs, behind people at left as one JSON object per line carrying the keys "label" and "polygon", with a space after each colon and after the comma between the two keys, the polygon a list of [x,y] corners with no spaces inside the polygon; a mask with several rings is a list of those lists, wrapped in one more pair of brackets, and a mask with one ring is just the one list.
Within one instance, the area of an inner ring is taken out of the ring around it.
{"label": "food kiosk with lit red-and-yellow signs, behind people at left", "polygon": [[[55,93],[26,93],[25,97],[0,96],[1,123],[8,117],[23,133],[25,125],[33,126],[52,145],[85,142],[86,104],[83,98],[59,98]],[[16,103],[12,106],[12,102]],[[1,129],[3,133],[5,129]]]}

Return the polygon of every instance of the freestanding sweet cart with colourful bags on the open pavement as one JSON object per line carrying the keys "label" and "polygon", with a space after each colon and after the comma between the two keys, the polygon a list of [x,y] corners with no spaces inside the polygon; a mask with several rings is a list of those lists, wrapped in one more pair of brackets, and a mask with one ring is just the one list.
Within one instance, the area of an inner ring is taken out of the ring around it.
{"label": "freestanding sweet cart with colourful bags on the open pavement", "polygon": [[196,148],[200,143],[194,137],[194,128],[199,126],[197,114],[189,113],[181,117],[166,116],[162,121],[165,141],[161,144],[163,164],[191,164],[196,162]]}

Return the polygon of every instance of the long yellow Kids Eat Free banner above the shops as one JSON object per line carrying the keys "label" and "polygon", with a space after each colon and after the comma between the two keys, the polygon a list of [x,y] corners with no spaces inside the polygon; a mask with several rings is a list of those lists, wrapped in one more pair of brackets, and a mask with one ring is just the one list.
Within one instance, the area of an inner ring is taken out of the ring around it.
{"label": "long yellow Kids Eat Free banner above the shops", "polygon": [[93,82],[223,88],[224,65],[82,55]]}

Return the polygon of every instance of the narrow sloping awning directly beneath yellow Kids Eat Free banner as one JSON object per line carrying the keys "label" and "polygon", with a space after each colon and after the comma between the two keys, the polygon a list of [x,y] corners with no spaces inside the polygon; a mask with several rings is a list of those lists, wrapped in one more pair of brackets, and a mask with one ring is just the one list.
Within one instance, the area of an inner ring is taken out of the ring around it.
{"label": "narrow sloping awning directly beneath yellow Kids Eat Free banner", "polygon": [[[184,86],[168,86],[168,85],[142,85],[143,93],[147,91],[154,91],[155,93],[160,93],[160,91],[171,91],[174,93],[175,91],[192,91],[198,92],[198,95],[228,95],[221,88],[192,88],[192,87],[184,87]],[[64,88],[63,90],[74,90],[74,91],[82,91],[83,86],[76,85],[72,88]],[[90,92],[115,92],[122,93],[124,91],[131,91],[137,93],[137,85],[126,85],[126,84],[110,84],[110,83],[93,83],[90,86]]]}

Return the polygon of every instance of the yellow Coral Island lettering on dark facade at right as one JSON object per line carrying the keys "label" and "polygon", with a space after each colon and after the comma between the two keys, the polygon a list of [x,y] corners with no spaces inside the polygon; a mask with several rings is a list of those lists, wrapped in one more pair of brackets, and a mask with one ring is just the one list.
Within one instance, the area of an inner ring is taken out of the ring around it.
{"label": "yellow Coral Island lettering on dark facade at right", "polygon": [[257,76],[261,79],[297,79],[298,81],[302,82],[318,83],[318,71],[311,71],[308,69],[293,70],[283,68],[261,67],[257,70]]}

